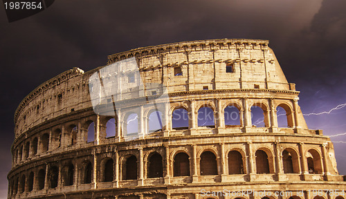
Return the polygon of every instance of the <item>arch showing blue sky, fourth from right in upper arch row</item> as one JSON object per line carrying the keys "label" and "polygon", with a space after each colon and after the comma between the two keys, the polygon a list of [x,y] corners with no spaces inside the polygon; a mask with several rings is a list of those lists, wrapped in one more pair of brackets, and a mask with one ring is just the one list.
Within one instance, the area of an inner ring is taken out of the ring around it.
{"label": "arch showing blue sky, fourth from right in upper arch row", "polygon": [[215,106],[211,104],[201,104],[197,109],[198,126],[208,126],[215,128]]}

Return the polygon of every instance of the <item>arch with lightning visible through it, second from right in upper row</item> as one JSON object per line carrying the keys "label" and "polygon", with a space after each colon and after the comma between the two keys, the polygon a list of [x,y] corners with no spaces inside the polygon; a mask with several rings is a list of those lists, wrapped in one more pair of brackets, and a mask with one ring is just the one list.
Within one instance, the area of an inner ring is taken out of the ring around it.
{"label": "arch with lightning visible through it, second from right in upper row", "polygon": [[[268,105],[262,102],[255,102],[250,108],[251,125],[255,127],[269,127]],[[259,109],[260,108],[260,109]],[[261,115],[263,113],[263,116]]]}

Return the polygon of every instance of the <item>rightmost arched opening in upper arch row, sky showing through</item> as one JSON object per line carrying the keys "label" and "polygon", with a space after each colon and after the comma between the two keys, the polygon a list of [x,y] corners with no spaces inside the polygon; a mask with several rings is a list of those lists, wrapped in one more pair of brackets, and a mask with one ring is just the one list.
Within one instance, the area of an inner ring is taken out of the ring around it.
{"label": "rightmost arched opening in upper arch row, sky showing through", "polygon": [[287,104],[280,104],[276,107],[277,126],[282,128],[293,127],[293,117],[291,108]]}

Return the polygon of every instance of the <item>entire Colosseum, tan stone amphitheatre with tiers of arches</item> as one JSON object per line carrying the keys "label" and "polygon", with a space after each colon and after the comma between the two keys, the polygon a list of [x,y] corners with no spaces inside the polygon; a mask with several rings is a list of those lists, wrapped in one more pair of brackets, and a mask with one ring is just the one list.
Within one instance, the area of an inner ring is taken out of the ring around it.
{"label": "entire Colosseum, tan stone amphitheatre with tiers of arches", "polygon": [[21,101],[8,198],[343,199],[298,95],[266,40],[109,55]]}

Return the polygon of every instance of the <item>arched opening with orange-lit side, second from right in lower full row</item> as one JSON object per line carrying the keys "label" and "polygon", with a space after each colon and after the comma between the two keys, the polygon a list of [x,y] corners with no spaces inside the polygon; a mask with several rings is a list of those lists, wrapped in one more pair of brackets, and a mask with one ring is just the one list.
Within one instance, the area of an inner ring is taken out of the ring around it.
{"label": "arched opening with orange-lit side, second from right in lower full row", "polygon": [[298,152],[293,148],[282,151],[282,167],[284,173],[300,173]]}

